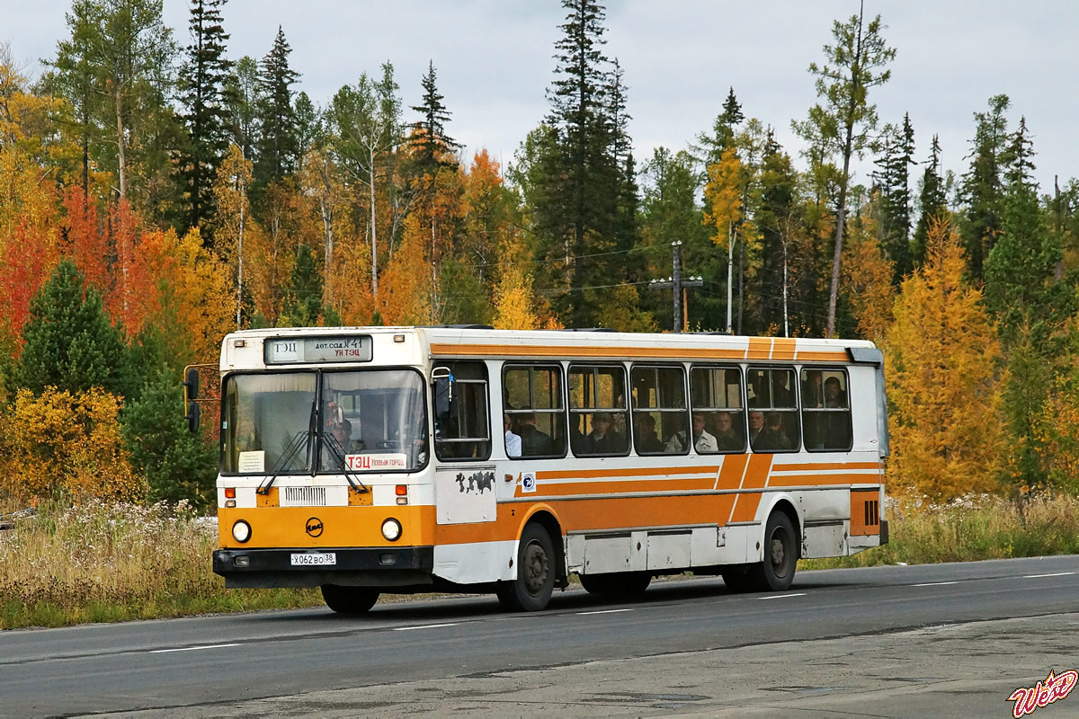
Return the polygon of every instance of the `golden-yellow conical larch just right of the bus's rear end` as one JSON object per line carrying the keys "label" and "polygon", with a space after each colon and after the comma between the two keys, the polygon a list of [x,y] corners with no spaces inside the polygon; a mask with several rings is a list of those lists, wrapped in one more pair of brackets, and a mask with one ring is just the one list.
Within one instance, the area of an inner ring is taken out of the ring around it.
{"label": "golden-yellow conical larch just right of the bus's rear end", "polygon": [[981,290],[962,279],[959,241],[946,223],[930,229],[885,346],[892,492],[934,500],[996,489],[1006,439],[1000,345]]}

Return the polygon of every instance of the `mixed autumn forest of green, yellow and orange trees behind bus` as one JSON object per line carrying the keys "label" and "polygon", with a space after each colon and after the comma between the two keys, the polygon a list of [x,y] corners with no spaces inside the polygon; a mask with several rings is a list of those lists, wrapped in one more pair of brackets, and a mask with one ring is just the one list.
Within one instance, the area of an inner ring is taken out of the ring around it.
{"label": "mixed autumn forest of green, yellow and orange trees behind bus", "polygon": [[[805,58],[804,116],[730,87],[637,156],[604,9],[561,4],[547,113],[505,167],[453,139],[435,58],[312,98],[284,29],[229,55],[226,0],[180,29],[162,0],[72,0],[39,77],[0,46],[0,499],[209,508],[180,383],[227,332],[440,323],[872,340],[889,494],[1079,493],[1079,181],[1035,181],[1022,108],[987,98],[943,167],[932,128],[878,116],[902,49],[859,11]],[[650,287],[674,243],[700,278],[681,317]]]}

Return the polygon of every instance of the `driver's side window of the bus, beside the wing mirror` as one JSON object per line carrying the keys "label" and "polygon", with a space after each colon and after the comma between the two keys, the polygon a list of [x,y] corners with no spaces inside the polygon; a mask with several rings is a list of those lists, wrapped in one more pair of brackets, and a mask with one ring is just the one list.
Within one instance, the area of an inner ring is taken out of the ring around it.
{"label": "driver's side window of the bus, beside the wing mirror", "polygon": [[435,418],[435,454],[443,461],[487,459],[491,456],[487,365],[442,362],[439,367],[453,375],[453,403],[449,417]]}

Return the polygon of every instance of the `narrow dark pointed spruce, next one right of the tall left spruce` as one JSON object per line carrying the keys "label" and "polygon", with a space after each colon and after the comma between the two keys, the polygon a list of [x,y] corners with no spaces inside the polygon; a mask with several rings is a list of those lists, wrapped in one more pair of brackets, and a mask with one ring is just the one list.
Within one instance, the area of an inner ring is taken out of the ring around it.
{"label": "narrow dark pointed spruce, next one right of the tall left spruce", "polygon": [[273,47],[259,67],[259,144],[255,163],[255,182],[265,186],[291,175],[299,160],[296,110],[292,107],[292,85],[300,73],[288,66],[292,52],[285,31],[277,26]]}

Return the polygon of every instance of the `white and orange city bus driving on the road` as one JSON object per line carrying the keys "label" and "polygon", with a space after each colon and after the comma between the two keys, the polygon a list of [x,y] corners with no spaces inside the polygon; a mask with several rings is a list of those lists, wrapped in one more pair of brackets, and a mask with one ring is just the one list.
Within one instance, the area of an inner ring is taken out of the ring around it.
{"label": "white and orange city bus driving on the road", "polygon": [[888,541],[870,342],[279,328],[226,336],[219,369],[229,587],[536,611],[573,575],[625,599],[683,572],[784,591],[800,558]]}

